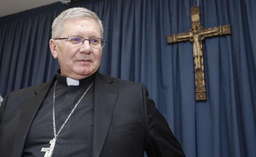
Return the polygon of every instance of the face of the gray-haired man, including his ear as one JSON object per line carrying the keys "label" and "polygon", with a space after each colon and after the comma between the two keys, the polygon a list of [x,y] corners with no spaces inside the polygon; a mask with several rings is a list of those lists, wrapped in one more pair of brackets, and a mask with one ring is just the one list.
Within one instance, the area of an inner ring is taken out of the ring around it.
{"label": "face of the gray-haired man, including his ear", "polygon": [[[98,23],[91,18],[67,20],[59,38],[73,35],[85,39],[102,38]],[[92,48],[88,40],[85,40],[81,46],[76,46],[67,40],[51,39],[50,49],[53,57],[58,59],[61,75],[83,79],[94,74],[100,66],[102,48]]]}

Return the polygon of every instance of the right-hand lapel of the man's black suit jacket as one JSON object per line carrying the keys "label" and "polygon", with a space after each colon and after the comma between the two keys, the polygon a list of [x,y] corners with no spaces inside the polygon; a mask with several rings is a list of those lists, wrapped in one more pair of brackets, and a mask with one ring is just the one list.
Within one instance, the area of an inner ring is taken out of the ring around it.
{"label": "right-hand lapel of the man's black suit jacket", "polygon": [[110,127],[117,99],[118,87],[110,77],[100,73],[95,76],[94,88],[94,131],[92,157],[99,157]]}

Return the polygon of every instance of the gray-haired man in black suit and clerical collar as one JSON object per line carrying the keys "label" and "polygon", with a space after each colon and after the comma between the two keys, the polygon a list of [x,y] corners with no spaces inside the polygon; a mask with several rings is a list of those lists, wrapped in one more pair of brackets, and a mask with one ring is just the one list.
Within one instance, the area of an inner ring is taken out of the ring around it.
{"label": "gray-haired man in black suit and clerical collar", "polygon": [[85,8],[53,22],[51,82],[9,93],[0,107],[0,157],[184,157],[143,84],[97,72],[105,44]]}

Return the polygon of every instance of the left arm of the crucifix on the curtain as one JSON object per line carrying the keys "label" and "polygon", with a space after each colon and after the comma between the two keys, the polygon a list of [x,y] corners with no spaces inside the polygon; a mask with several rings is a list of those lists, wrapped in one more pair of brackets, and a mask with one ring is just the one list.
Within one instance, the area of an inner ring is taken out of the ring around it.
{"label": "left arm of the crucifix on the curtain", "polygon": [[193,35],[190,32],[187,32],[187,33],[167,35],[166,41],[167,41],[167,44],[171,44],[171,43],[174,43],[174,42],[181,42],[181,41],[185,41],[185,40],[190,40],[190,38],[193,38]]}

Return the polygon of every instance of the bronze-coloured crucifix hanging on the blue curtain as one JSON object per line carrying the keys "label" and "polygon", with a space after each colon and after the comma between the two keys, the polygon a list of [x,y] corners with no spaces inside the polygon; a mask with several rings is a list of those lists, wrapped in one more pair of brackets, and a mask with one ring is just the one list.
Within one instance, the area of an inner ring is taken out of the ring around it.
{"label": "bronze-coloured crucifix hanging on the blue curtain", "polygon": [[229,24],[209,29],[201,27],[199,6],[190,8],[190,15],[192,22],[190,31],[187,33],[167,35],[167,44],[186,40],[193,42],[195,99],[196,101],[200,101],[206,100],[202,40],[210,36],[231,34],[231,29]]}

